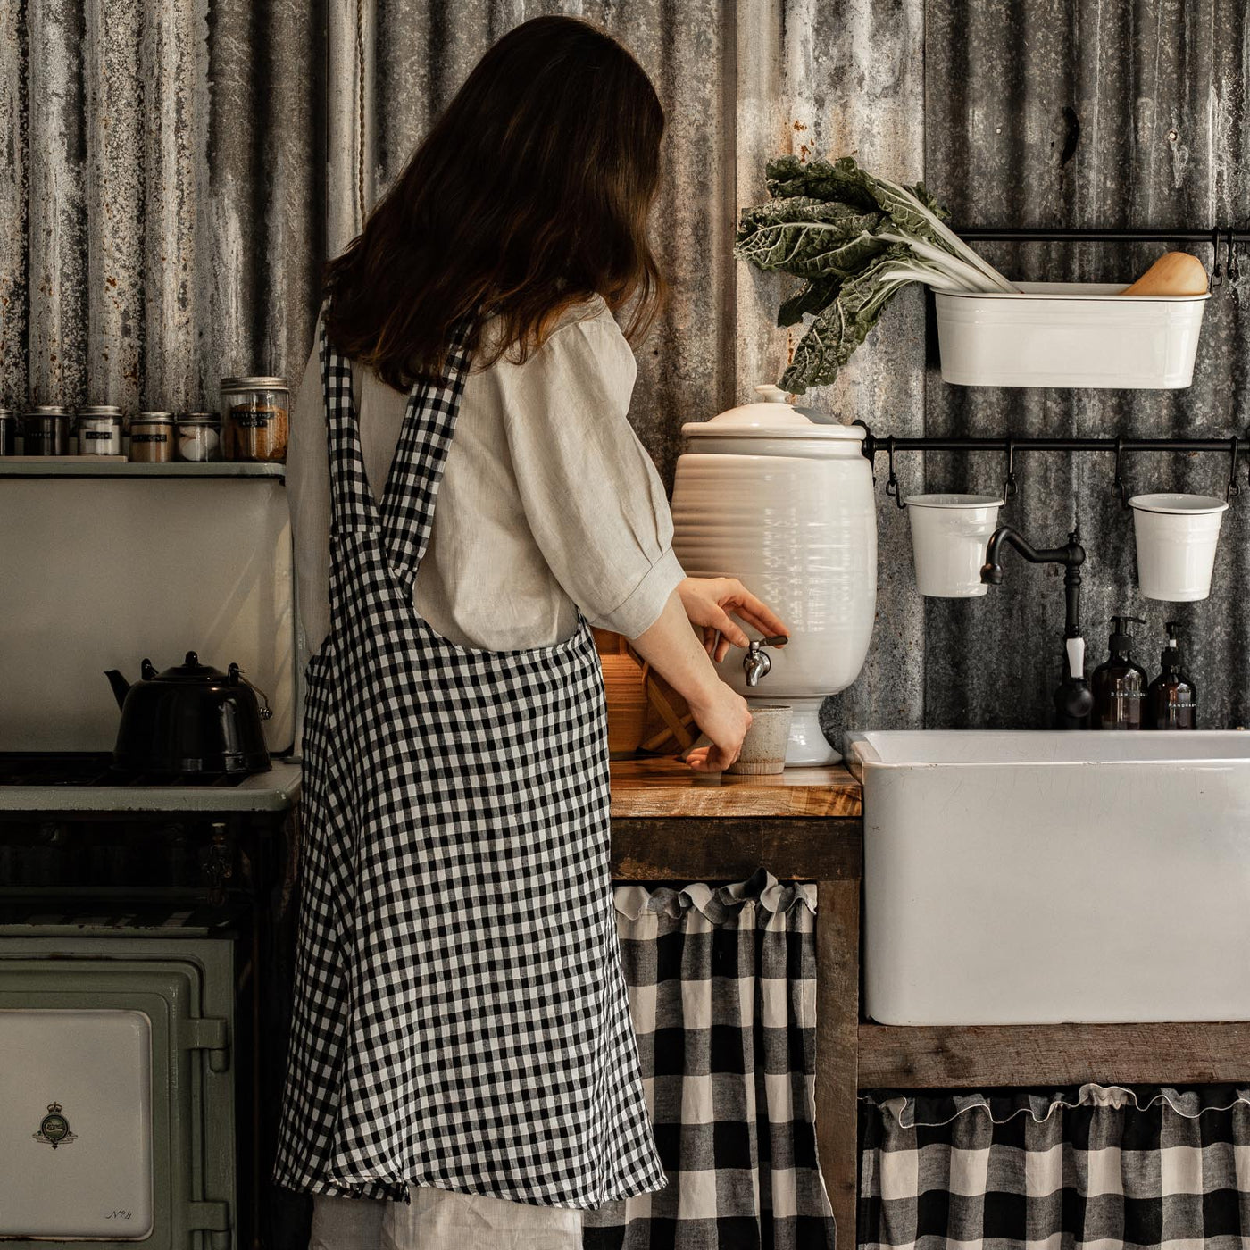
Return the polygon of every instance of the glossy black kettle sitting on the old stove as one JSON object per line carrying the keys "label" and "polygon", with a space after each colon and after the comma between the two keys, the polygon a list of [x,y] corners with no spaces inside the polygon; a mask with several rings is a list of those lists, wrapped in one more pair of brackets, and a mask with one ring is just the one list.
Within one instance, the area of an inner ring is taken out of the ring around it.
{"label": "glossy black kettle sitting on the old stove", "polygon": [[[134,684],[116,670],[105,674],[121,709],[112,768],[128,772],[265,772],[270,768],[261,721],[269,699],[242,675],[186,662],[158,672],[144,660]],[[264,706],[258,705],[260,694]]]}

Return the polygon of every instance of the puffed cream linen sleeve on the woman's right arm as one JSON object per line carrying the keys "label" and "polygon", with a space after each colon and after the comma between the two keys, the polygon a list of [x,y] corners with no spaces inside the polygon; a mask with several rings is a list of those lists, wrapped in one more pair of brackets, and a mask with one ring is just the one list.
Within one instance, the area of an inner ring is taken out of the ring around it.
{"label": "puffed cream linen sleeve on the woman's right arm", "polygon": [[664,484],[626,419],[635,368],[606,311],[498,368],[534,539],[586,619],[626,638],[655,622],[685,576]]}

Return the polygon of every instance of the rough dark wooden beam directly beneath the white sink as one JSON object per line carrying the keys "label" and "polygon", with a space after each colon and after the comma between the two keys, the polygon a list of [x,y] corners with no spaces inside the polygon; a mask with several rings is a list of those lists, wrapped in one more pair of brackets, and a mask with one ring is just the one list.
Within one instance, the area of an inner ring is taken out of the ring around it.
{"label": "rough dark wooden beam directly beneath the white sink", "polygon": [[861,1024],[860,1089],[1206,1085],[1250,1078],[1250,1024]]}

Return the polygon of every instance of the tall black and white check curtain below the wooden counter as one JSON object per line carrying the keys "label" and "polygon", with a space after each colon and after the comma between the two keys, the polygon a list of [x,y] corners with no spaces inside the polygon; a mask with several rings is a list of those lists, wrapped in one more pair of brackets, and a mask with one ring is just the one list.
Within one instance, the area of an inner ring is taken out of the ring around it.
{"label": "tall black and white check curtain below the wooden counter", "polygon": [[586,1250],[832,1250],[816,1162],[814,885],[619,885],[665,1189],[585,1216]]}

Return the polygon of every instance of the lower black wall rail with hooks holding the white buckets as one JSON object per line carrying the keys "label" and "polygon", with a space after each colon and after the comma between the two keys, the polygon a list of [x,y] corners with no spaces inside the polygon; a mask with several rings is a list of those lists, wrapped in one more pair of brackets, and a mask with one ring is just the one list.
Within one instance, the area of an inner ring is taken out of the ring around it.
{"label": "lower black wall rail with hooks holding the white buckets", "polygon": [[1226,439],[1018,439],[1006,435],[1001,439],[944,439],[919,438],[896,439],[878,438],[864,421],[856,421],[864,428],[864,455],[872,466],[872,480],[876,481],[876,458],[884,451],[889,458],[889,476],[885,492],[899,508],[904,506],[899,494],[899,479],[894,471],[894,456],[899,451],[978,451],[996,452],[1006,458],[1006,476],[1002,481],[1002,499],[1010,500],[1016,494],[1015,458],[1020,451],[1061,451],[1066,454],[1104,452],[1115,456],[1111,496],[1128,506],[1128,491],[1120,475],[1121,459],[1126,452],[1164,451],[1188,455],[1200,451],[1222,452],[1229,458],[1229,479],[1224,488],[1224,498],[1231,500],[1241,494],[1238,481],[1238,469],[1241,456],[1250,452],[1250,440],[1238,435]]}

